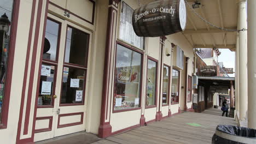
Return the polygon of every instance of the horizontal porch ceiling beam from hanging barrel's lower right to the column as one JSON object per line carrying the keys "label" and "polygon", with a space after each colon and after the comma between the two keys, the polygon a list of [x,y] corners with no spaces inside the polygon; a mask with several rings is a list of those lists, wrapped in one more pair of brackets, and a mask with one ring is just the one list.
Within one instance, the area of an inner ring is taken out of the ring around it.
{"label": "horizontal porch ceiling beam from hanging barrel's lower right to the column", "polygon": [[[237,29],[236,27],[228,27],[226,29]],[[203,33],[233,33],[236,34],[235,31],[223,31],[221,29],[218,28],[214,28],[214,29],[197,29],[196,31],[194,29],[185,29],[184,34],[203,34]]]}

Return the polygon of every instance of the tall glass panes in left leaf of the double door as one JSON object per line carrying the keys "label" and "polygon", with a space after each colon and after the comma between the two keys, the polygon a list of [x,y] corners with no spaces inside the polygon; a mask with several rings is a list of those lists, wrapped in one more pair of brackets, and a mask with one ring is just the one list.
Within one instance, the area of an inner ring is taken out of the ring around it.
{"label": "tall glass panes in left leaf of the double door", "polygon": [[[47,19],[43,47],[43,61],[38,93],[38,106],[53,106],[55,73],[57,71],[57,50],[59,48],[60,23]],[[51,64],[47,64],[51,62]]]}

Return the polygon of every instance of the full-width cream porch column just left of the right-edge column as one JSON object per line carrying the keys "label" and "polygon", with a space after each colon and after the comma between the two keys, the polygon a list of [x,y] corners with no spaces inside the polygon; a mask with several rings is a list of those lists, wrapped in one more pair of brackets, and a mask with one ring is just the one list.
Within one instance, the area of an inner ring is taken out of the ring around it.
{"label": "full-width cream porch column just left of the right-edge column", "polygon": [[[238,29],[247,29],[246,23],[246,0],[238,0]],[[247,111],[247,31],[239,32],[239,109],[240,120],[246,118]]]}

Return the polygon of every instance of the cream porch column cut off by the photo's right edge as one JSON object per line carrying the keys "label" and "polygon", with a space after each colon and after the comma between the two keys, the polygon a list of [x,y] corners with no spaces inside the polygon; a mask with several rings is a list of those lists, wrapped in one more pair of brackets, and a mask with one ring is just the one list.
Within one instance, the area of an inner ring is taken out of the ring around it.
{"label": "cream porch column cut off by the photo's right edge", "polygon": [[248,0],[248,128],[256,129],[256,1]]}

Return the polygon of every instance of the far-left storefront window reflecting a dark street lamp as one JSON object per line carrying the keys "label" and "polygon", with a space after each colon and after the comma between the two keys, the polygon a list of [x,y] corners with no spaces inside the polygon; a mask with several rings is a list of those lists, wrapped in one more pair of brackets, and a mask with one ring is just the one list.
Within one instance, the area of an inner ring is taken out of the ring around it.
{"label": "far-left storefront window reflecting a dark street lamp", "polygon": [[2,123],[2,106],[4,103],[4,90],[7,76],[8,55],[10,45],[10,26],[13,11],[13,1],[0,2],[0,123]]}

